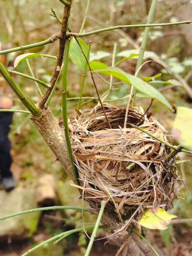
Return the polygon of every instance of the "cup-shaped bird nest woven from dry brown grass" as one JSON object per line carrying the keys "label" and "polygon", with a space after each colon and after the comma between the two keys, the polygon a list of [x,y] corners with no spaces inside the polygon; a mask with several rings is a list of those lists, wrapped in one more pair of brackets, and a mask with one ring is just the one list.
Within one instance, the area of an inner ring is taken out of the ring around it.
{"label": "cup-shaped bird nest woven from dry brown grass", "polygon": [[138,127],[167,144],[168,132],[134,109],[123,128],[126,108],[104,104],[104,110],[112,129],[100,105],[69,120],[83,199],[93,208],[107,200],[105,208],[121,216],[138,207],[171,208],[179,176],[167,161],[170,148]]}

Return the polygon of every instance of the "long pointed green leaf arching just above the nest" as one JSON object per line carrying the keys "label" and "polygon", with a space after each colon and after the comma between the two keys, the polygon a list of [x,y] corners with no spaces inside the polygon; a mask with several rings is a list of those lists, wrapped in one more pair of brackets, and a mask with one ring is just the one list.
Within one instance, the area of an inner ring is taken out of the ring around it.
{"label": "long pointed green leaf arching just above the nest", "polygon": [[[95,68],[96,69],[96,68]],[[146,83],[145,81],[141,80],[138,77],[134,77],[131,74],[126,73],[125,71],[122,71],[120,68],[117,67],[108,67],[105,69],[100,69],[100,70],[95,70],[95,72],[101,72],[107,75],[113,75],[114,77],[123,80],[130,85],[133,85],[137,91],[156,99],[159,101],[161,104],[166,106],[168,109],[172,111],[172,107],[169,104],[169,102],[164,98],[164,96],[158,92],[157,89],[155,89],[153,86],[150,84]]]}

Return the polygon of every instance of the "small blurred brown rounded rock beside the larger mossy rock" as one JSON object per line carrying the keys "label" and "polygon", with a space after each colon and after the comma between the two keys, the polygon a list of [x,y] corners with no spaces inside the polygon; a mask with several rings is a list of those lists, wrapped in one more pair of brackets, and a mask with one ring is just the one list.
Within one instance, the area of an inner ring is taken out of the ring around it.
{"label": "small blurred brown rounded rock beside the larger mossy rock", "polygon": [[52,174],[44,174],[38,180],[35,201],[40,206],[53,206],[56,204],[56,182]]}

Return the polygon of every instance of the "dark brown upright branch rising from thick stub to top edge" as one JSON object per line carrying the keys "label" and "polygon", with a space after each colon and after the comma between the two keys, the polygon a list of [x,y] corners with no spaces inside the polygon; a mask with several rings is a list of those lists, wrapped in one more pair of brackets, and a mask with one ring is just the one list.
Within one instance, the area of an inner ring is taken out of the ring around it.
{"label": "dark brown upright branch rising from thick stub to top edge", "polygon": [[[70,0],[71,3],[71,0]],[[61,32],[60,32],[60,38],[59,38],[59,49],[58,49],[58,54],[57,54],[57,61],[55,64],[55,68],[51,77],[51,80],[49,82],[49,84],[51,85],[50,88],[47,88],[45,90],[45,93],[43,95],[43,97],[41,98],[41,101],[39,102],[39,107],[42,109],[44,108],[44,105],[47,101],[47,99],[49,98],[49,95],[51,94],[51,91],[55,85],[55,82],[58,78],[60,69],[61,69],[61,65],[62,65],[62,61],[63,61],[63,54],[64,54],[64,49],[65,49],[65,43],[66,43],[66,32],[67,32],[67,24],[68,24],[68,19],[70,16],[70,9],[71,9],[71,5],[65,5],[64,7],[64,13],[63,13],[63,18],[62,18],[62,22],[61,22]]]}

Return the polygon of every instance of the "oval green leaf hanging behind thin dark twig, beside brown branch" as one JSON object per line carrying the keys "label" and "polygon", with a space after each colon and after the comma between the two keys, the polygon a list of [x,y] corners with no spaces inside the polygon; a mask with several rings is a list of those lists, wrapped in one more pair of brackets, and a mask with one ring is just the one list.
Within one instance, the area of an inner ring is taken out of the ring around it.
{"label": "oval green leaf hanging behind thin dark twig, beside brown branch", "polygon": [[[87,56],[88,46],[85,44],[85,42],[82,39],[77,38],[77,40],[78,40],[80,46],[82,47],[82,50],[85,53],[85,56]],[[84,55],[82,54],[82,51],[74,38],[70,42],[69,56],[70,56],[71,61],[78,68],[84,70],[85,64],[86,64],[86,59],[85,59]]]}

